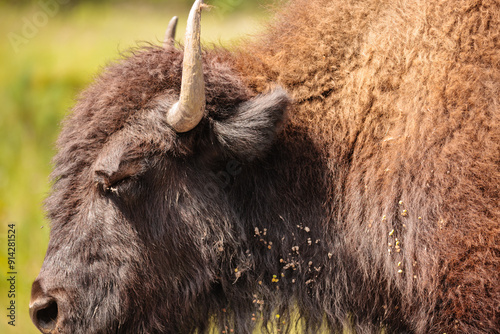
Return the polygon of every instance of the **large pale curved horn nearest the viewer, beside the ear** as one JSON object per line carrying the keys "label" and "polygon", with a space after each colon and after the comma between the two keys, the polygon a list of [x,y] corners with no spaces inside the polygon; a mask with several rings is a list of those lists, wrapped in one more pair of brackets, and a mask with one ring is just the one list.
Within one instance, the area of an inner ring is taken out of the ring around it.
{"label": "large pale curved horn nearest the viewer, beside the ear", "polygon": [[189,13],[182,84],[179,101],[167,113],[167,122],[177,132],[192,130],[203,118],[205,112],[205,79],[201,57],[201,8],[203,0],[196,0]]}

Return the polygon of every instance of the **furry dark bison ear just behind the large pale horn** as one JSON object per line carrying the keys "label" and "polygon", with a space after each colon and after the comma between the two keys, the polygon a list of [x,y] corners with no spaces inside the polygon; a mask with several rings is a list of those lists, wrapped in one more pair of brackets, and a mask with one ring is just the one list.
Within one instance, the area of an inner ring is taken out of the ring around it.
{"label": "furry dark bison ear just behind the large pale horn", "polygon": [[262,157],[272,146],[290,101],[278,87],[242,102],[230,117],[214,121],[218,141],[242,160]]}

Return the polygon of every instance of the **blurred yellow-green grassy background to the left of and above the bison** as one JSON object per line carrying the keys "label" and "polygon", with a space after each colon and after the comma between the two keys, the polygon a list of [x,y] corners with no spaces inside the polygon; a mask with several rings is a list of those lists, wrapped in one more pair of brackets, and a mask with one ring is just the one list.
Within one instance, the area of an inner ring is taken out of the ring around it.
{"label": "blurred yellow-green grassy background to the left of and above the bison", "polygon": [[[269,16],[266,0],[212,0],[205,43],[231,44]],[[49,240],[43,200],[60,122],[107,63],[138,41],[160,43],[191,0],[0,1],[0,333],[37,333],[28,304]],[[16,226],[16,326],[7,324],[7,225]]]}

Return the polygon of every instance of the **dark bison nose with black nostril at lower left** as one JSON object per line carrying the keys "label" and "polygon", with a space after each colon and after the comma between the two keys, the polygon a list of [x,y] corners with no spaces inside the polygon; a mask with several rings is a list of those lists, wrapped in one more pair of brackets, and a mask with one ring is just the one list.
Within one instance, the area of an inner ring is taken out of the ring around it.
{"label": "dark bison nose with black nostril at lower left", "polygon": [[57,333],[59,313],[58,299],[47,295],[40,280],[36,280],[31,287],[31,321],[42,333]]}

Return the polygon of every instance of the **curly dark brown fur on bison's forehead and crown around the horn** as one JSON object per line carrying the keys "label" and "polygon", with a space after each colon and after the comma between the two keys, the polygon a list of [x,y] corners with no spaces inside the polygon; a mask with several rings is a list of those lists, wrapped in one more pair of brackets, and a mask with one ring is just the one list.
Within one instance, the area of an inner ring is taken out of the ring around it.
{"label": "curly dark brown fur on bison's forehead and crown around the horn", "polygon": [[57,141],[52,172],[55,183],[46,200],[49,219],[67,221],[78,212],[93,180],[91,166],[114,137],[132,135],[128,140],[134,141],[133,146],[153,144],[157,153],[158,149],[175,147],[181,141],[194,143],[206,135],[211,120],[230,117],[234,107],[249,98],[250,93],[234,74],[227,53],[205,52],[205,117],[192,131],[176,134],[154,105],[159,98],[178,99],[182,58],[183,52],[174,48],[147,46],[132,50],[128,57],[105,68],[82,92]]}

